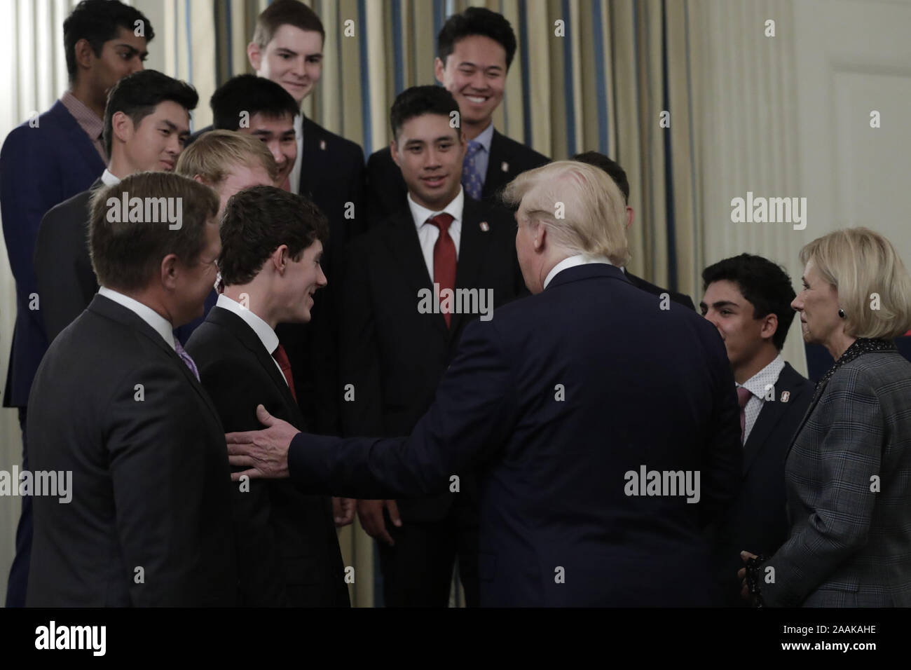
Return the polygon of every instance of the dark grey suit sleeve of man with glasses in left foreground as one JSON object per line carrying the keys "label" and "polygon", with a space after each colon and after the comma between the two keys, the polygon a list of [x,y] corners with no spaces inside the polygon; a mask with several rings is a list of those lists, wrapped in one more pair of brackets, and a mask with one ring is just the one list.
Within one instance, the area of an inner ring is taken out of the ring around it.
{"label": "dark grey suit sleeve of man with glasses in left foreground", "polygon": [[[194,604],[188,594],[196,591],[193,566],[205,522],[200,481],[211,436],[195,416],[193,394],[177,366],[146,364],[120,379],[108,403],[118,541],[137,607]],[[139,567],[144,579],[137,583]]]}

